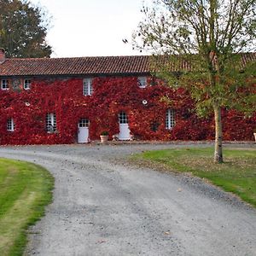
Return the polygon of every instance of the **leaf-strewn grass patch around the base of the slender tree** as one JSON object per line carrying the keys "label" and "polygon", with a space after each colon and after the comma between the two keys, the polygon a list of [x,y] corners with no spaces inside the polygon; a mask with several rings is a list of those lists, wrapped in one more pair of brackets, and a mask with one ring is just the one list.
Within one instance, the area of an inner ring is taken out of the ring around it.
{"label": "leaf-strewn grass patch around the base of the slender tree", "polygon": [[137,163],[172,172],[191,172],[256,207],[256,150],[224,149],[224,164],[213,164],[213,148],[147,151],[133,157]]}

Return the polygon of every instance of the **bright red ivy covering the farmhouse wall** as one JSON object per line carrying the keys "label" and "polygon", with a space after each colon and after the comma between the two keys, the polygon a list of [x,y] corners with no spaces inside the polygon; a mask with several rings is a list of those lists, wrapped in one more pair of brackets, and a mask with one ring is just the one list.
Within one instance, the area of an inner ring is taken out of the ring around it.
{"label": "bright red ivy covering the farmhouse wall", "polygon": [[[148,81],[150,84],[150,81]],[[212,117],[199,119],[185,90],[155,84],[142,89],[137,78],[96,78],[93,95],[83,95],[83,79],[34,81],[31,90],[0,91],[1,144],[76,143],[79,119],[90,119],[90,139],[102,131],[119,133],[118,114],[125,111],[131,133],[138,139],[209,140],[214,137]],[[163,96],[171,102],[163,101]],[[143,100],[148,104],[143,105]],[[166,109],[175,109],[176,125],[166,130]],[[46,132],[47,113],[55,113],[57,131]],[[253,140],[256,115],[245,119],[223,110],[224,140]],[[15,120],[15,131],[7,131],[7,119]],[[157,124],[157,131],[152,125]]]}

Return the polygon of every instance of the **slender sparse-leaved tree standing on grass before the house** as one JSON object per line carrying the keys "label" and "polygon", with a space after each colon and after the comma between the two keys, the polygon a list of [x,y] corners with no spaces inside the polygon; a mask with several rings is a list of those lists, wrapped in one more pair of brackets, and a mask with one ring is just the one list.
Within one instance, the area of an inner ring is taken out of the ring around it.
{"label": "slender sparse-leaved tree standing on grass before the house", "polygon": [[142,12],[134,46],[161,58],[154,68],[189,90],[199,114],[214,113],[214,161],[222,163],[221,109],[255,111],[256,1],[155,0]]}

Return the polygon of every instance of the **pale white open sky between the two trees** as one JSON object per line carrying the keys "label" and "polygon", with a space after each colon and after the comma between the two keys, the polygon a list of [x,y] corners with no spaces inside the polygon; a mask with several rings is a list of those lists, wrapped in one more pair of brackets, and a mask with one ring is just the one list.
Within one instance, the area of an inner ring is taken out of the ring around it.
{"label": "pale white open sky between the two trees", "polygon": [[[143,0],[31,0],[52,16],[52,57],[142,55],[124,44],[143,19]],[[131,43],[131,40],[130,40]]]}

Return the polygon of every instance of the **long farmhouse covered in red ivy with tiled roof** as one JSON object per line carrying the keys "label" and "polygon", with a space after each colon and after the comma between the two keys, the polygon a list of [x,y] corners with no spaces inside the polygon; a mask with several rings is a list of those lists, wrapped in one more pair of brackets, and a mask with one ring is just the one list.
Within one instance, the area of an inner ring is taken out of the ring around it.
{"label": "long farmhouse covered in red ivy with tiled roof", "polygon": [[[188,92],[150,73],[149,58],[8,59],[0,49],[0,144],[89,143],[103,131],[119,140],[212,140],[212,116],[198,118]],[[255,115],[223,112],[224,140],[253,139]]]}

